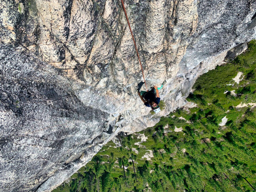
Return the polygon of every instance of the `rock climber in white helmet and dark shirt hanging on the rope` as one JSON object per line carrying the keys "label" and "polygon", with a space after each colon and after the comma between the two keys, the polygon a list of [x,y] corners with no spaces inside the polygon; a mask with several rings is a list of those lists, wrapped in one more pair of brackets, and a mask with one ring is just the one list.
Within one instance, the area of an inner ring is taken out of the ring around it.
{"label": "rock climber in white helmet and dark shirt hanging on the rope", "polygon": [[160,97],[157,86],[151,87],[150,91],[139,91],[138,89],[138,95],[140,96],[140,99],[144,102],[144,105],[147,107],[151,107],[151,109],[155,113],[161,111],[158,106],[160,102]]}

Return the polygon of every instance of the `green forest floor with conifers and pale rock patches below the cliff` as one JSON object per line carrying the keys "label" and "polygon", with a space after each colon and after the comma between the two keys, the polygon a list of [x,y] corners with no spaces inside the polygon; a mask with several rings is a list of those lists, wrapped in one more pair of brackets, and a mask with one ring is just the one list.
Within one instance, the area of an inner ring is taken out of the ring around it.
{"label": "green forest floor with conifers and pale rock patches below the cliff", "polygon": [[108,142],[53,192],[255,191],[255,68],[253,40],[234,61],[197,79],[187,97],[196,107],[120,133],[121,146]]}

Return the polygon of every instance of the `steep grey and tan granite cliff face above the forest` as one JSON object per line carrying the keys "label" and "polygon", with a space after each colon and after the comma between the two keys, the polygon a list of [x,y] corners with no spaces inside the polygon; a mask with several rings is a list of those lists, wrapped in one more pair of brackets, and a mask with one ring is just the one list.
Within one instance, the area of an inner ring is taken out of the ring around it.
{"label": "steep grey and tan granite cliff face above the forest", "polygon": [[[196,78],[256,38],[254,0],[0,1],[0,190],[51,191],[118,132],[183,106]],[[241,46],[239,46],[241,44]]]}

